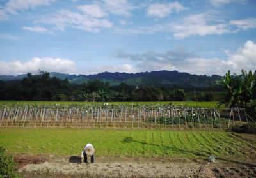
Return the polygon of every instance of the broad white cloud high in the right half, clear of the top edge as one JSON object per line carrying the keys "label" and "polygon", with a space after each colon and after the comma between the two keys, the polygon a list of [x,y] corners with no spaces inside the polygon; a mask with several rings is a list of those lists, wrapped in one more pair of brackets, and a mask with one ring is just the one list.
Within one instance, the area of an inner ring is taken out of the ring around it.
{"label": "broad white cloud high in the right half, clear of the top edge", "polygon": [[200,13],[186,17],[181,23],[170,24],[170,31],[177,39],[183,39],[188,36],[205,36],[209,34],[224,34],[231,33],[227,24],[210,24],[215,21],[208,13]]}

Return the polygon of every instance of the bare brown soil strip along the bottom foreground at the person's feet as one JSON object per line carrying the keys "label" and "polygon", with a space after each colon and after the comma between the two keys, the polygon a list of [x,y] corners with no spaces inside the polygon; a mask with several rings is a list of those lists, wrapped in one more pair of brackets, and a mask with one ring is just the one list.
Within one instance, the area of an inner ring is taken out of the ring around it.
{"label": "bare brown soil strip along the bottom foreground at the person's feet", "polygon": [[256,177],[256,164],[202,159],[15,156],[22,177]]}

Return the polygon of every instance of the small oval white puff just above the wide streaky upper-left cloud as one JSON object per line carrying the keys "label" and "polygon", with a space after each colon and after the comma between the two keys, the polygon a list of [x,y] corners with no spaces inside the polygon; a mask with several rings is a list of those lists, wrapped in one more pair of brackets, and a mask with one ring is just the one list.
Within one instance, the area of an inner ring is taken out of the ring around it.
{"label": "small oval white puff just above the wide streaky upper-left cloud", "polygon": [[106,16],[106,13],[102,10],[102,8],[98,4],[77,6],[77,8],[83,11],[84,14],[90,15],[92,17],[100,18],[100,17]]}

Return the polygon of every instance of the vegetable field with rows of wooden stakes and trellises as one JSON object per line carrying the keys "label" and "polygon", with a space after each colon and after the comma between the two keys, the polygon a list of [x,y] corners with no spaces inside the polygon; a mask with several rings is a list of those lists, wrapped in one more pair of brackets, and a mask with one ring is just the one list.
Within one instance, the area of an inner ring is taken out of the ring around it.
{"label": "vegetable field with rows of wooden stakes and trellises", "polygon": [[[236,115],[236,117],[235,117]],[[183,105],[3,105],[1,127],[230,128],[255,122],[243,108]]]}

